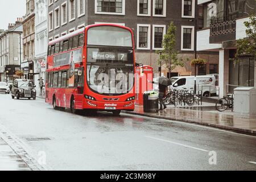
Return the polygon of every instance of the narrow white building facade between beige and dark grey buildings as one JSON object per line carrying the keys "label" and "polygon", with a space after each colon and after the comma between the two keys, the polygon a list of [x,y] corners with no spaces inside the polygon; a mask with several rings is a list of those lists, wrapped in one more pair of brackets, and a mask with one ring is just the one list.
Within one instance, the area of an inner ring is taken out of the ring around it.
{"label": "narrow white building facade between beige and dark grey buildings", "polygon": [[39,79],[46,80],[46,61],[48,45],[48,1],[35,0],[35,66],[34,76],[37,93],[40,94]]}

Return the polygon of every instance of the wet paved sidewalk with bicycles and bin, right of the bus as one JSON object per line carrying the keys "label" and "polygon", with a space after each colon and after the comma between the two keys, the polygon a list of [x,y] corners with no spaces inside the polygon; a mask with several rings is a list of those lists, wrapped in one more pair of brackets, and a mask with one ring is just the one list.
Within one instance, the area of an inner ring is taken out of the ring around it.
{"label": "wet paved sidewalk with bicycles and bin, right of the bus", "polygon": [[213,104],[204,106],[168,106],[159,113],[144,113],[143,106],[135,106],[135,110],[123,111],[128,114],[142,115],[152,118],[171,119],[189,123],[197,123],[205,126],[217,127],[225,130],[232,130],[238,133],[256,135],[256,119],[237,117],[231,110],[223,113],[215,110]]}

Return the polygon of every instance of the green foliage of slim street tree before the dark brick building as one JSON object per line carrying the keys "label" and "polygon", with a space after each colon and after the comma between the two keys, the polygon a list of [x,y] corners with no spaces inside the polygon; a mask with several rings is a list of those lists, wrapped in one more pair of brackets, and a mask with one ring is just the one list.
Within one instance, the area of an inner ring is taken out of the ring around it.
{"label": "green foliage of slim street tree before the dark brick building", "polygon": [[178,59],[178,51],[176,49],[176,31],[174,22],[170,23],[166,35],[163,39],[163,50],[156,51],[159,56],[158,64],[162,62],[169,72],[174,70],[177,66],[184,67],[182,59]]}

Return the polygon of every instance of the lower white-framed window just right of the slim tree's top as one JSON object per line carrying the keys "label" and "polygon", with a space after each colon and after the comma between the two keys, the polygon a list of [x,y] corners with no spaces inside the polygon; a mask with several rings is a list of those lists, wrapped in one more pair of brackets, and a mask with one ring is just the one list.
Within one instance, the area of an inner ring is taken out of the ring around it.
{"label": "lower white-framed window just right of the slim tree's top", "polygon": [[181,26],[181,51],[194,50],[194,27]]}

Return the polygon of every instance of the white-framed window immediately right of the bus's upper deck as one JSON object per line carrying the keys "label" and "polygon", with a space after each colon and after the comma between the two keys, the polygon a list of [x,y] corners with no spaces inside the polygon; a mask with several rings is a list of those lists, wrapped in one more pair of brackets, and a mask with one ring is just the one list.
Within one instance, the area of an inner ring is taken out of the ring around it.
{"label": "white-framed window immediately right of the bus's upper deck", "polygon": [[138,49],[150,49],[150,24],[137,25]]}

